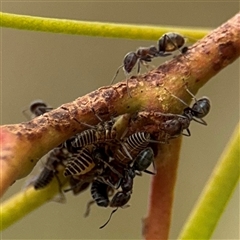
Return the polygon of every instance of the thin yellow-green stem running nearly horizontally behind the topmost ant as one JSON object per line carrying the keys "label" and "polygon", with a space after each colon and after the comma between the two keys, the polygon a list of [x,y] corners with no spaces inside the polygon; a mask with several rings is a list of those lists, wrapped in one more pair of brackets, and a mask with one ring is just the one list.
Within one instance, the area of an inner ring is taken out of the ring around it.
{"label": "thin yellow-green stem running nearly horizontally behind the topmost ant", "polygon": [[0,26],[21,30],[77,34],[94,37],[112,37],[137,40],[156,40],[166,32],[179,32],[189,42],[203,38],[210,29],[131,25],[103,22],[42,18],[0,12]]}

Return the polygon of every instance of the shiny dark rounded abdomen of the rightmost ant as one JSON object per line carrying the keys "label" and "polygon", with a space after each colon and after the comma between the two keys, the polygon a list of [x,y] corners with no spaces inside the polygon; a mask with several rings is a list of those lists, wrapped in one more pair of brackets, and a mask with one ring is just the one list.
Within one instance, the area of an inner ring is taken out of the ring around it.
{"label": "shiny dark rounded abdomen of the rightmost ant", "polygon": [[211,103],[207,97],[202,97],[192,106],[192,113],[196,118],[205,117],[210,111]]}

